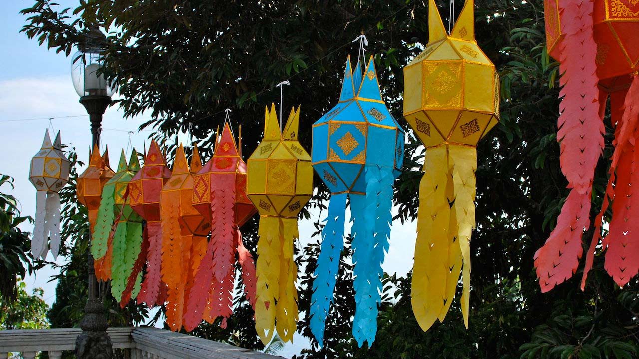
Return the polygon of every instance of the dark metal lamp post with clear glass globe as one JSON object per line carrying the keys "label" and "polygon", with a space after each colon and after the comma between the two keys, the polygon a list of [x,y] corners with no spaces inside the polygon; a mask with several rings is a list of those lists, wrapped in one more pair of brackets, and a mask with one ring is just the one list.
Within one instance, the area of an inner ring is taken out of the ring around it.
{"label": "dark metal lamp post with clear glass globe", "polygon": [[[99,29],[91,30],[89,38],[102,37]],[[100,144],[100,126],[102,115],[111,104],[111,96],[114,86],[99,73],[102,49],[99,47],[84,46],[73,56],[71,70],[73,86],[80,95],[80,103],[89,114],[91,120],[91,135],[93,146]],[[91,245],[91,233],[89,233],[89,248]],[[98,294],[98,280],[95,277],[93,256],[88,251],[89,271],[89,298],[84,306],[84,317],[80,322],[82,334],[75,340],[75,353],[79,359],[99,358],[111,359],[113,346],[111,338],[107,334],[107,318],[105,317],[104,304]]]}

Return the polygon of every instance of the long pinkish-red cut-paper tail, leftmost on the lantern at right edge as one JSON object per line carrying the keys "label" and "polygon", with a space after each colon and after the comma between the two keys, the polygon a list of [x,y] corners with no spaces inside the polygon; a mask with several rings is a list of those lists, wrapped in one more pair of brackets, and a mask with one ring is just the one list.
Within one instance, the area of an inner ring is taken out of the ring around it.
{"label": "long pinkish-red cut-paper tail, leftmost on the lantern at right edge", "polygon": [[[583,252],[581,235],[590,225],[590,194],[597,160],[604,146],[599,115],[596,44],[592,33],[593,1],[559,1],[562,33],[559,43],[560,116],[557,141],[560,164],[571,192],[557,226],[535,252],[535,269],[542,292],[573,276]],[[605,102],[604,102],[605,103]]]}

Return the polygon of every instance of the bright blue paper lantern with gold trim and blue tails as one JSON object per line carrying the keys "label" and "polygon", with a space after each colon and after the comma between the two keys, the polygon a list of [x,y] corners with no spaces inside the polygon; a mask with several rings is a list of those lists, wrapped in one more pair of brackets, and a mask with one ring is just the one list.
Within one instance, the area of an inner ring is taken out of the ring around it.
{"label": "bright blue paper lantern with gold trim and blue tails", "polygon": [[312,166],[332,193],[311,298],[311,332],[323,345],[344,245],[346,199],[353,220],[353,336],[369,346],[377,332],[381,264],[389,248],[393,183],[404,158],[404,130],[381,99],[373,56],[362,74],[350,57],[339,103],[312,127]]}

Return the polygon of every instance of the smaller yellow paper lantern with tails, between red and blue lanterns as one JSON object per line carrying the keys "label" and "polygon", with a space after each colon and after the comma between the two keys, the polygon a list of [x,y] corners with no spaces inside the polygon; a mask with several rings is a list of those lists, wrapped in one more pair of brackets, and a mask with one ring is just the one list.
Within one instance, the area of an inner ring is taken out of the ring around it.
{"label": "smaller yellow paper lantern with tails, between red and blue lanterns", "polygon": [[282,132],[275,105],[266,107],[264,138],[248,160],[247,192],[259,211],[255,326],[264,344],[275,330],[284,342],[293,340],[298,319],[293,246],[297,216],[312,195],[311,157],[297,139],[299,120],[299,107],[291,109]]}

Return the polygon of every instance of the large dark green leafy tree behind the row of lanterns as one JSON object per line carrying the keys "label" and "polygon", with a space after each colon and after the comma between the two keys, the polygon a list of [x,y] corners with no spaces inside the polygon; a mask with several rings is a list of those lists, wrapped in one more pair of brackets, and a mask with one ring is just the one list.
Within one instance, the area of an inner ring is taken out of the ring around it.
{"label": "large dark green leafy tree behind the row of lanterns", "polygon": [[[445,322],[423,333],[410,307],[410,273],[389,276],[377,340],[371,348],[357,348],[350,334],[355,304],[347,243],[326,347],[318,348],[307,317],[316,241],[296,250],[302,270],[298,332],[312,343],[301,358],[339,358],[346,353],[356,358],[639,355],[639,285],[633,280],[622,289],[616,287],[603,270],[602,256],[595,257],[584,292],[578,289],[581,268],[550,293],[539,291],[533,254],[548,237],[567,195],[555,137],[558,68],[546,52],[543,1],[475,3],[477,39],[500,72],[502,115],[478,147],[470,327],[463,328],[454,302]],[[448,13],[448,8],[440,12]],[[159,139],[172,138],[191,123],[205,156],[210,155],[214,130],[226,108],[233,108],[233,121],[244,125],[243,151],[250,153],[261,138],[261,106],[277,100],[274,86],[284,79],[291,81],[284,88],[284,105],[302,103],[299,135],[310,148],[311,123],[337,99],[346,55],[357,55],[351,40],[361,31],[371,41],[367,54],[376,54],[387,105],[401,118],[403,66],[427,41],[427,8],[415,0],[82,0],[75,10],[50,8],[47,1],[35,0],[23,13],[30,16],[24,27],[27,36],[67,55],[74,45],[87,42],[86,29],[105,29],[107,37],[100,40],[104,72],[118,81],[118,103],[125,114],[150,114],[141,128],[154,128]],[[603,158],[610,157],[611,141],[608,135]],[[424,155],[411,135],[408,142],[404,172],[396,183],[399,222],[415,219]],[[169,149],[174,146],[173,141],[167,143]],[[606,162],[602,159],[597,167],[596,201],[603,197]],[[311,211],[318,213],[325,209],[328,195],[319,178],[314,183],[318,191]],[[304,215],[309,218],[309,212]],[[314,220],[319,231],[319,218]],[[255,229],[255,222],[243,229],[252,249]],[[201,326],[195,333],[259,348],[250,310],[240,310],[229,324],[230,332]]]}

